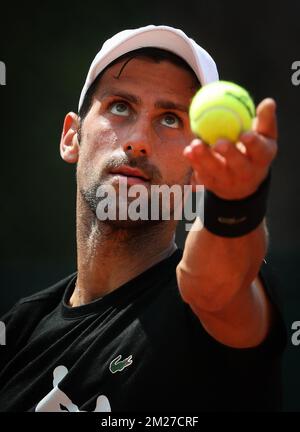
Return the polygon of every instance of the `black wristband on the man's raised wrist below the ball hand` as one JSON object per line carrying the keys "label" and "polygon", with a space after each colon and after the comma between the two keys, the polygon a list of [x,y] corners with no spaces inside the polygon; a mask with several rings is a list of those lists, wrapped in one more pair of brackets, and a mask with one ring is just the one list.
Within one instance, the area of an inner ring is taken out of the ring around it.
{"label": "black wristband on the man's raised wrist below the ball hand", "polygon": [[241,200],[225,200],[205,189],[204,227],[222,237],[240,237],[262,222],[267,210],[271,173],[256,192]]}

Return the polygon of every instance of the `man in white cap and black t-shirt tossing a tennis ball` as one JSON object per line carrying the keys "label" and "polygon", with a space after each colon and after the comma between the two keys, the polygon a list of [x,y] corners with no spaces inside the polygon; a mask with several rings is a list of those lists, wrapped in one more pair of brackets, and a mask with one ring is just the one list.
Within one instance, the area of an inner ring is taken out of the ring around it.
{"label": "man in white cap and black t-shirt tossing a tennis ball", "polygon": [[[209,54],[167,26],[121,32],[95,57],[60,146],[77,164],[78,272],[4,317],[1,410],[279,409],[284,332],[261,269],[275,103],[260,103],[242,146],[209,148],[188,107],[217,79]],[[139,185],[151,206],[152,186],[189,183],[206,188],[205,219],[183,254],[174,217],[124,219],[124,201],[99,217],[101,188],[118,198]],[[222,226],[228,204],[245,223]]]}

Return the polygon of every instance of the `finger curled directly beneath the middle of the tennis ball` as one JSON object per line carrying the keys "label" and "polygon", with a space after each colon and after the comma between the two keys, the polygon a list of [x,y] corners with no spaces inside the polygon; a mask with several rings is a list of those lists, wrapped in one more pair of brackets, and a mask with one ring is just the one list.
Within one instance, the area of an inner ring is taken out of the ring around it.
{"label": "finger curled directly beneath the middle of the tennis ball", "polygon": [[228,140],[218,140],[214,151],[221,154],[226,161],[226,166],[238,174],[240,178],[249,180],[253,172],[251,160]]}

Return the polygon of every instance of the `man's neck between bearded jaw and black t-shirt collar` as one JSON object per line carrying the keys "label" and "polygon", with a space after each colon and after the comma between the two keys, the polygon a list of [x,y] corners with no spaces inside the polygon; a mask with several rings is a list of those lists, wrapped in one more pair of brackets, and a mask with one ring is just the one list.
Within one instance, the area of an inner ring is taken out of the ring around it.
{"label": "man's neck between bearded jaw and black t-shirt collar", "polygon": [[103,223],[78,200],[78,276],[71,306],[103,297],[170,256],[177,248],[174,231],[172,221],[129,228]]}

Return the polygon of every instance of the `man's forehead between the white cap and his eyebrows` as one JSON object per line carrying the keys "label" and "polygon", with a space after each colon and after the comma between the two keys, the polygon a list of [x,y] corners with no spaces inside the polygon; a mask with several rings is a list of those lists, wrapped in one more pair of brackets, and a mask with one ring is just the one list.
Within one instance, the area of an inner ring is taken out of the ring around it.
{"label": "man's forehead between the white cap and his eyebrows", "polygon": [[95,92],[100,99],[110,90],[132,90],[150,98],[169,95],[189,103],[199,87],[194,75],[169,60],[156,62],[146,57],[122,60],[102,75]]}

